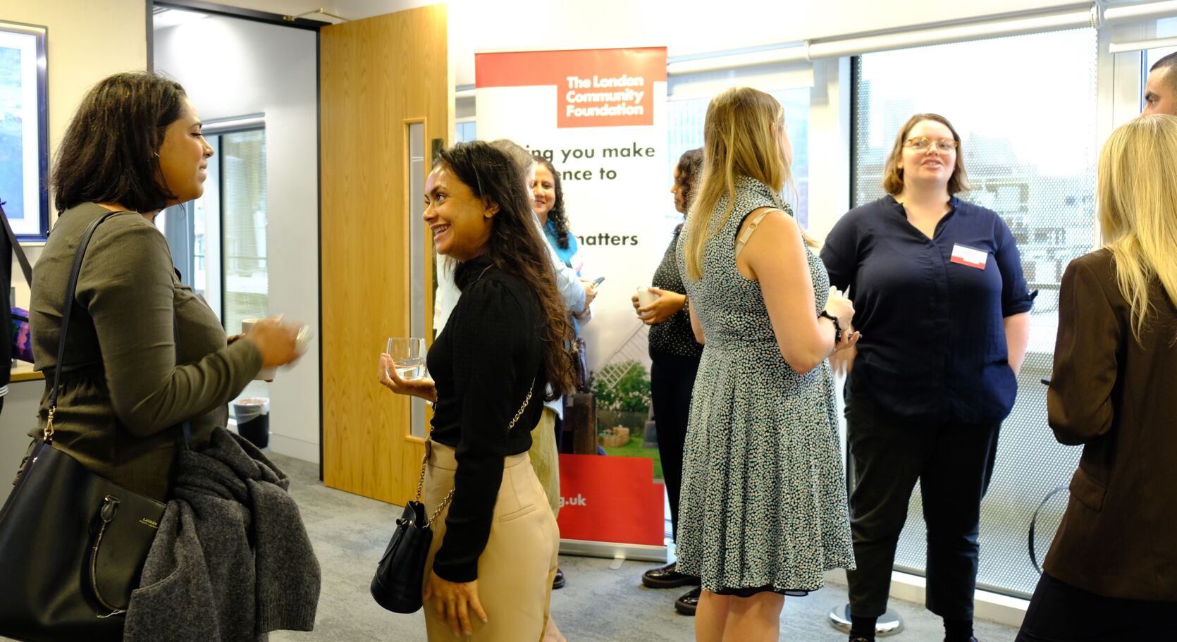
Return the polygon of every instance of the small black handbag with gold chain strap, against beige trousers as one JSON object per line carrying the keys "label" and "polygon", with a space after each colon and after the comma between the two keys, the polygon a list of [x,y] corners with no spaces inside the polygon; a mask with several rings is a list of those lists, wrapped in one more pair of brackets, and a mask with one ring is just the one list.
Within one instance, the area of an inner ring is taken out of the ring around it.
{"label": "small black handbag with gold chain strap, against beige trousers", "polygon": [[[527,399],[507,424],[510,433],[531,403],[536,380],[527,387]],[[425,581],[425,559],[433,541],[433,523],[453,500],[453,489],[446,494],[432,515],[426,519],[421,493],[425,489],[425,469],[430,453],[421,459],[421,476],[417,481],[417,499],[405,506],[405,513],[397,520],[397,529],[388,540],[375,575],[372,577],[372,598],[393,613],[417,613],[421,608],[421,587]]]}

